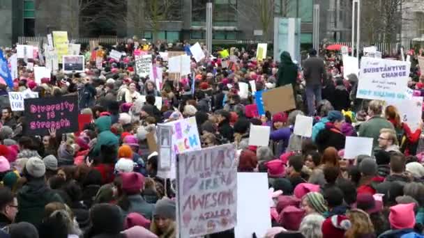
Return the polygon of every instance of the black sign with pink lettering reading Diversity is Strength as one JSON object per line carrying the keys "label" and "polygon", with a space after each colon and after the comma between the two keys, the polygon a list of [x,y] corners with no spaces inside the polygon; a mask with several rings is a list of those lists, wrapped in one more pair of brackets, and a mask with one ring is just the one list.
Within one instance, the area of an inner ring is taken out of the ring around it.
{"label": "black sign with pink lettering reading Diversity is Strength", "polygon": [[77,132],[78,96],[43,97],[24,100],[24,133],[44,136],[50,128],[56,134]]}

